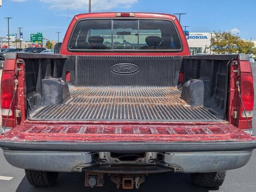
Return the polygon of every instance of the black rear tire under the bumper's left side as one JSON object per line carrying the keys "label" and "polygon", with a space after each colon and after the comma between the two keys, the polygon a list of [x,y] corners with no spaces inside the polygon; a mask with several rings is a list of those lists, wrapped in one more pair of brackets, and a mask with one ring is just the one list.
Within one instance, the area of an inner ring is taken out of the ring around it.
{"label": "black rear tire under the bumper's left side", "polygon": [[58,177],[58,172],[25,169],[28,182],[34,186],[51,186]]}

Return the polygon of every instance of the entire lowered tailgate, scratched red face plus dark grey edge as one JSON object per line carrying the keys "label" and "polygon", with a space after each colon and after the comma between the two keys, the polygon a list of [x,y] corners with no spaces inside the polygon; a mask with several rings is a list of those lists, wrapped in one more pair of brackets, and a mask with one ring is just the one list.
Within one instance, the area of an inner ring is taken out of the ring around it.
{"label": "entire lowered tailgate, scratched red face plus dark grey edge", "polygon": [[24,123],[0,147],[53,151],[225,151],[256,148],[234,125],[61,125]]}

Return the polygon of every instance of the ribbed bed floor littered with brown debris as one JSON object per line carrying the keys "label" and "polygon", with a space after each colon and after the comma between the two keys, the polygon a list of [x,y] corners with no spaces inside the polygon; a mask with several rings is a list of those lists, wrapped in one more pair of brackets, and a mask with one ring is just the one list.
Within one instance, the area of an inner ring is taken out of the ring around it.
{"label": "ribbed bed floor littered with brown debris", "polygon": [[205,107],[180,99],[176,88],[70,87],[71,100],[30,114],[40,120],[213,121],[220,117]]}

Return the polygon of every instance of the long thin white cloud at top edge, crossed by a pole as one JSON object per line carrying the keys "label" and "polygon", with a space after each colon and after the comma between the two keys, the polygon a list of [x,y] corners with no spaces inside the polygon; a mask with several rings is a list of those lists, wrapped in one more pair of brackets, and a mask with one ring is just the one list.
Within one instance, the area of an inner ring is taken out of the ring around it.
{"label": "long thin white cloud at top edge, crossed by a pole", "polygon": [[[79,9],[88,10],[88,0],[40,0],[41,2],[50,4],[52,9]],[[112,8],[130,8],[137,3],[138,0],[92,0],[92,11],[107,11]]]}

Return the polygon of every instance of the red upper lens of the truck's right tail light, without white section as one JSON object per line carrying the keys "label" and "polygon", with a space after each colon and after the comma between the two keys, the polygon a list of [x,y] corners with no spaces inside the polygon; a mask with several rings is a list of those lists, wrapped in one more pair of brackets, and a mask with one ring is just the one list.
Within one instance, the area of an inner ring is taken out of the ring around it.
{"label": "red upper lens of the truck's right tail light, without white section", "polygon": [[241,96],[246,111],[253,110],[254,104],[254,86],[252,75],[242,75],[241,78]]}

